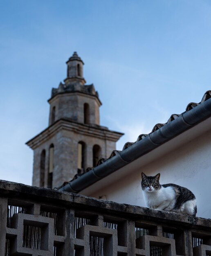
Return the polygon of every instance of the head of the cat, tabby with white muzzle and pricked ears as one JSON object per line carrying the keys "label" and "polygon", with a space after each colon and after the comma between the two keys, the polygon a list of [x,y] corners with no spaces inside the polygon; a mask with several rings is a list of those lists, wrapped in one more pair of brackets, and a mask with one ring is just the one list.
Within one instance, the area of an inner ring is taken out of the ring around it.
{"label": "head of the cat, tabby with white muzzle and pricked ears", "polygon": [[146,176],[144,173],[141,173],[141,177],[142,177],[142,180],[141,180],[142,190],[151,193],[160,188],[159,173],[155,176]]}

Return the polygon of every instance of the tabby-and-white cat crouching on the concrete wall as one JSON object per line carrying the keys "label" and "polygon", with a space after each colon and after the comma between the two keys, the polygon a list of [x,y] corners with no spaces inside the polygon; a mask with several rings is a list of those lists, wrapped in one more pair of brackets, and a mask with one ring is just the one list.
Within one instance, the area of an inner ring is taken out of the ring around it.
{"label": "tabby-and-white cat crouching on the concrete wall", "polygon": [[155,176],[146,176],[142,172],[141,177],[141,188],[147,207],[196,215],[195,195],[189,189],[176,184],[161,185],[159,183],[160,173]]}

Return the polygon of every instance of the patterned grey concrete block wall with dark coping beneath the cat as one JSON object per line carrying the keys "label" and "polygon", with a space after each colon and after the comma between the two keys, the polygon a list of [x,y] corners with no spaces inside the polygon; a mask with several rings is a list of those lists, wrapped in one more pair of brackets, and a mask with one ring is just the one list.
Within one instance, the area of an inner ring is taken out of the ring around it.
{"label": "patterned grey concrete block wall with dark coping beneath the cat", "polygon": [[1,256],[208,256],[211,220],[0,180]]}

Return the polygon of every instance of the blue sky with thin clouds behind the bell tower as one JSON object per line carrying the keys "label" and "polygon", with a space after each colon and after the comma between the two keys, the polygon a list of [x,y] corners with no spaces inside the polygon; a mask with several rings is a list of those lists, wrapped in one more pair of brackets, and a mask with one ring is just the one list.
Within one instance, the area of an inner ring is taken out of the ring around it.
{"label": "blue sky with thin clouds behind the bell tower", "polygon": [[211,89],[209,0],[0,2],[0,179],[31,184],[25,142],[48,125],[52,87],[77,51],[101,125],[148,133]]}

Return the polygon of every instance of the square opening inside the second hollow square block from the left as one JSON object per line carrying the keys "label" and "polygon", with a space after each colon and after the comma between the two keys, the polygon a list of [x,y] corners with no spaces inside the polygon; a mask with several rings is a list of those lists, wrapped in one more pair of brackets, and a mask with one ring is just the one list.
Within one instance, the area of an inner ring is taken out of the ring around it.
{"label": "square opening inside the second hollow square block from the left", "polygon": [[90,236],[90,256],[104,256],[104,238]]}

